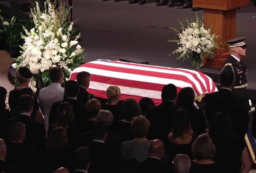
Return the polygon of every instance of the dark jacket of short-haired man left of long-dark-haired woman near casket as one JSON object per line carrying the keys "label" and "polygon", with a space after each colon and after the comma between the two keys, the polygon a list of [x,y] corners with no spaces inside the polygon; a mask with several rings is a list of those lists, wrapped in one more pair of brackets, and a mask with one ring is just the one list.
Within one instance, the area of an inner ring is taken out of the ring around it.
{"label": "dark jacket of short-haired man left of long-dark-haired woman near casket", "polygon": [[147,138],[166,141],[172,130],[173,115],[177,106],[172,101],[163,101],[160,105],[148,108],[146,118],[150,121]]}

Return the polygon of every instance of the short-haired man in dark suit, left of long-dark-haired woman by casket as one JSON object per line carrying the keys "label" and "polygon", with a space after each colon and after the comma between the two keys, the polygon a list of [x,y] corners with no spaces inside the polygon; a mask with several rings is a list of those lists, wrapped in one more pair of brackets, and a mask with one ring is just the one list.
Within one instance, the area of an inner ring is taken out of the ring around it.
{"label": "short-haired man in dark suit, left of long-dark-haired woman by casket", "polygon": [[161,97],[162,103],[149,108],[146,112],[146,118],[150,121],[147,139],[160,139],[164,142],[172,130],[173,115],[177,110],[174,103],[177,97],[176,86],[173,84],[163,86]]}

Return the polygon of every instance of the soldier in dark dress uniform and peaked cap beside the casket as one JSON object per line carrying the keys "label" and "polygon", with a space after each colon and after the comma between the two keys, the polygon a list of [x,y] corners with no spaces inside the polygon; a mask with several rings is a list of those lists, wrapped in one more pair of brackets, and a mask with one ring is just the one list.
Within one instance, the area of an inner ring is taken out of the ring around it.
{"label": "soldier in dark dress uniform and peaked cap beside the casket", "polygon": [[227,41],[229,46],[230,55],[227,57],[224,63],[224,69],[231,69],[235,74],[234,89],[233,92],[240,95],[246,104],[248,110],[251,107],[249,103],[249,96],[247,90],[247,68],[242,63],[241,57],[246,55],[245,37],[235,38]]}

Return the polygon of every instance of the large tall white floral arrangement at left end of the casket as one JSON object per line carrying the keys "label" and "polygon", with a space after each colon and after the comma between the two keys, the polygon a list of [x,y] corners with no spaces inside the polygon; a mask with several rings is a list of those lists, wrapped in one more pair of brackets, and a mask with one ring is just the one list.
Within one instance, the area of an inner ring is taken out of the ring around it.
{"label": "large tall white floral arrangement at left end of the casket", "polygon": [[[31,79],[31,88],[42,88],[49,85],[49,69],[59,66],[63,69],[64,80],[67,80],[81,61],[85,58],[81,53],[84,51],[78,45],[80,33],[71,40],[73,32],[73,22],[67,21],[67,15],[71,8],[67,9],[65,3],[60,3],[59,8],[56,5],[45,2],[45,11],[40,11],[36,2],[36,7],[31,9],[31,18],[35,27],[27,31],[26,36],[22,34],[25,43],[21,47],[20,57],[12,64],[15,69],[26,66],[33,73]],[[46,8],[48,7],[48,8]]]}

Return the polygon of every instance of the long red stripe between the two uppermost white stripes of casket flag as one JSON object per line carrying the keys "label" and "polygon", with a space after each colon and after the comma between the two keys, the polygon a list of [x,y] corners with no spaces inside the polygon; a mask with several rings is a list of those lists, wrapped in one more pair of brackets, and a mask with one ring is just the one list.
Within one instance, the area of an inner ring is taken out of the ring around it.
{"label": "long red stripe between the two uppermost white stripes of casket flag", "polygon": [[[179,80],[179,81],[184,81],[193,86],[195,89],[197,95],[201,95],[199,93],[198,89],[196,88],[196,85],[186,76],[182,76],[179,74],[168,74],[168,73],[159,73],[159,72],[150,72],[146,70],[137,70],[137,69],[127,69],[127,68],[120,68],[120,67],[113,67],[113,66],[107,66],[107,65],[99,65],[99,64],[92,64],[92,63],[86,63],[83,65],[83,67],[87,68],[95,68],[95,69],[101,69],[101,70],[108,70],[112,72],[121,72],[121,73],[129,73],[129,74],[138,74],[138,75],[143,75],[143,76],[152,76],[152,77],[159,77],[159,78],[167,78],[167,79],[174,79],[174,80]],[[200,80],[197,80],[198,82]],[[105,82],[104,82],[105,83]],[[206,89],[202,82],[199,82],[201,88],[203,87],[203,93],[206,92]],[[174,84],[175,85],[175,84]]]}

